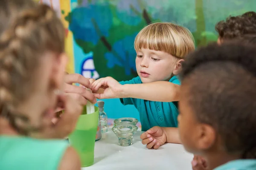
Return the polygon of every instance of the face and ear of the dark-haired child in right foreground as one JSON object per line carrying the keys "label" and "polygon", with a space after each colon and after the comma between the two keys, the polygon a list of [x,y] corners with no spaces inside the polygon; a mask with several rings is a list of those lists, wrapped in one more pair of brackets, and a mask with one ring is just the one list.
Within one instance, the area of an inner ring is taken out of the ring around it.
{"label": "face and ear of the dark-haired child in right foreground", "polygon": [[178,115],[180,140],[188,152],[203,155],[215,145],[215,130],[198,121],[189,102],[192,97],[189,94],[189,82],[182,82]]}

